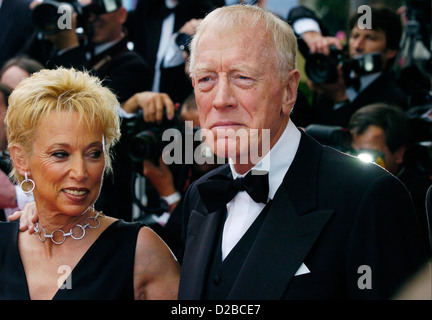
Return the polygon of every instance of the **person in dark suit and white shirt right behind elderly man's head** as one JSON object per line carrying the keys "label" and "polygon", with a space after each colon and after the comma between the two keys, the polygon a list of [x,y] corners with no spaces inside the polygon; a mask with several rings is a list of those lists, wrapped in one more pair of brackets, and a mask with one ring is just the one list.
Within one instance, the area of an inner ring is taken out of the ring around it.
{"label": "person in dark suit and white shirt right behind elderly man's head", "polygon": [[186,42],[213,8],[212,0],[140,0],[129,12],[125,26],[134,51],[150,66],[149,90],[165,92],[176,103],[182,103],[192,92],[176,40]]}

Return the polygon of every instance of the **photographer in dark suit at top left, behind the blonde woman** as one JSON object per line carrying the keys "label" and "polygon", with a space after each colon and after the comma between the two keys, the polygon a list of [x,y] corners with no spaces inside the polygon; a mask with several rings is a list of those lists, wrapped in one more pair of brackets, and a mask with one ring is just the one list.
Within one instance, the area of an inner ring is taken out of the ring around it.
{"label": "photographer in dark suit at top left, behind the blonde woman", "polygon": [[[44,64],[91,70],[117,95],[120,103],[136,92],[149,90],[147,63],[127,47],[128,30],[123,26],[127,11],[122,1],[111,1],[109,6],[99,0],[68,2],[74,13],[71,28],[63,30],[43,20],[52,10],[49,4],[42,2],[33,9],[37,29],[54,46]],[[52,20],[59,21],[57,17]],[[84,30],[83,34],[77,33],[77,27]]]}

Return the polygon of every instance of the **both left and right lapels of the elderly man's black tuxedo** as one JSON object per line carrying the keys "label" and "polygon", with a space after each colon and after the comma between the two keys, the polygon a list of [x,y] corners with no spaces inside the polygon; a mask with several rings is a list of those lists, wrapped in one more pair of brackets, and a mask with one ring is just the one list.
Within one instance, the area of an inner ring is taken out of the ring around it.
{"label": "both left and right lapels of the elderly man's black tuxedo", "polygon": [[[333,214],[317,210],[322,147],[302,132],[296,156],[272,200],[228,299],[278,300]],[[229,167],[220,172],[227,173]],[[198,191],[195,189],[195,192]],[[179,297],[201,299],[224,210],[192,210]],[[186,255],[187,254],[187,255]],[[313,270],[311,270],[313,272]]]}

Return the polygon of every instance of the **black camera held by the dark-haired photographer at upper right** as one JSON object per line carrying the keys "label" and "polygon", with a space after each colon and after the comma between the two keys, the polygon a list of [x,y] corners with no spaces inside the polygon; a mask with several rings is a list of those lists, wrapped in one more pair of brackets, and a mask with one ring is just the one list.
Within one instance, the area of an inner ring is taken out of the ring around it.
{"label": "black camera held by the dark-haired photographer at upper right", "polygon": [[381,55],[378,52],[367,53],[349,58],[343,50],[334,46],[330,54],[308,54],[305,71],[309,79],[315,83],[334,83],[338,79],[338,66],[342,66],[342,74],[346,82],[352,77],[374,73],[382,70]]}

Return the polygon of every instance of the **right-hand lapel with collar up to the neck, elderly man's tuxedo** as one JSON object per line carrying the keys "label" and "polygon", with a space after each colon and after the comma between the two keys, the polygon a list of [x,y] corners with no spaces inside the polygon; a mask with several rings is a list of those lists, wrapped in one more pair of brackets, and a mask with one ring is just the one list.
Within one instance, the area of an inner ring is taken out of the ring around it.
{"label": "right-hand lapel with collar up to the neck, elderly man's tuxedo", "polygon": [[333,214],[333,210],[315,210],[320,154],[321,147],[302,134],[296,157],[273,199],[229,299],[282,297]]}

